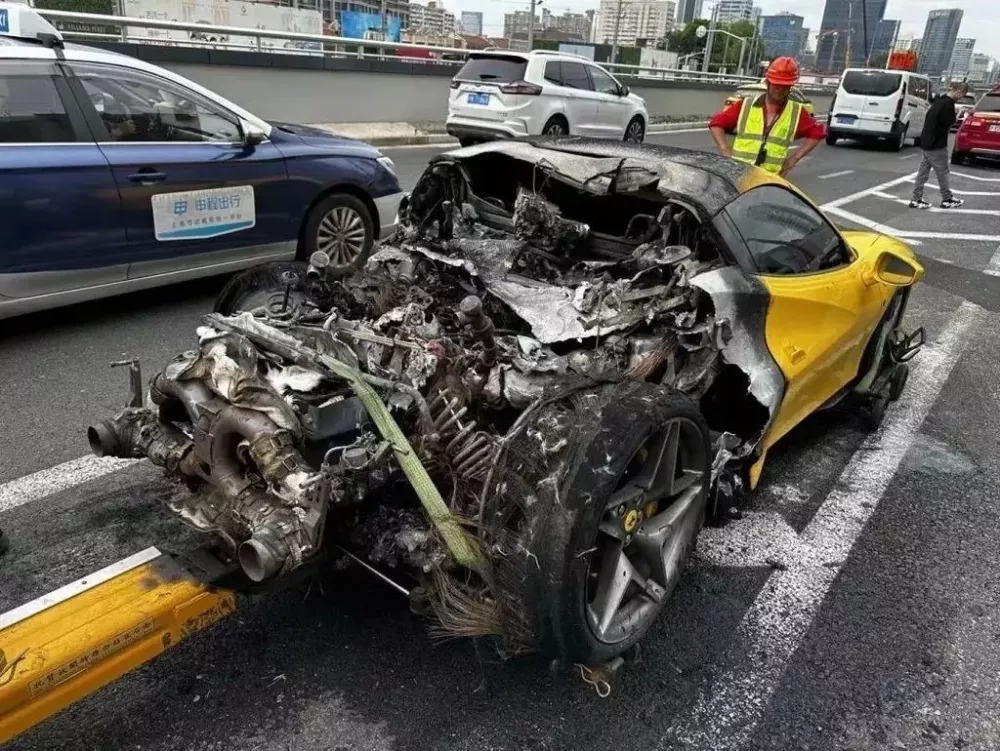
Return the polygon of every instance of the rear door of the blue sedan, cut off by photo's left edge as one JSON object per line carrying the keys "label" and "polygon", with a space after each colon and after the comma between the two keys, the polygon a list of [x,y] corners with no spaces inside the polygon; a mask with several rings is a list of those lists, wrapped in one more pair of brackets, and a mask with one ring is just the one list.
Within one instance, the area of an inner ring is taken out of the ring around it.
{"label": "rear door of the blue sedan, cut off by photo's left edge", "polygon": [[118,188],[56,61],[0,60],[0,296],[124,281]]}

